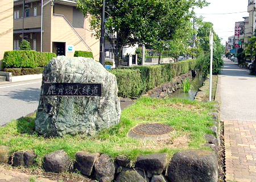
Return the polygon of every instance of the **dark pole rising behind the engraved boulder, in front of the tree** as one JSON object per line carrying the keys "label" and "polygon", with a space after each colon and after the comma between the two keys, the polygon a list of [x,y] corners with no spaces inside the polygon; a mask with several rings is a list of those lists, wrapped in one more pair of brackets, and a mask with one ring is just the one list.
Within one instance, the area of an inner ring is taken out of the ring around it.
{"label": "dark pole rising behind the engraved boulder, in front of the tree", "polygon": [[100,38],[100,63],[105,65],[105,38],[104,38],[104,22],[105,22],[105,0],[102,1],[101,9],[101,38]]}

